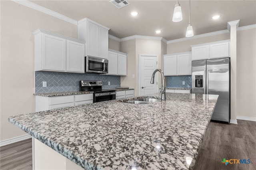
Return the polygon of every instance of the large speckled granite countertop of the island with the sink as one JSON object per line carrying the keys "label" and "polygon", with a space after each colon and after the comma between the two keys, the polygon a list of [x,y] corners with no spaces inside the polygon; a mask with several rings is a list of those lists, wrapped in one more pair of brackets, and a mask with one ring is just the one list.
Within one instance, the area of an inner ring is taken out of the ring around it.
{"label": "large speckled granite countertop of the island with the sink", "polygon": [[145,105],[119,99],[8,120],[88,170],[188,170],[194,166],[217,98],[166,93],[166,101]]}

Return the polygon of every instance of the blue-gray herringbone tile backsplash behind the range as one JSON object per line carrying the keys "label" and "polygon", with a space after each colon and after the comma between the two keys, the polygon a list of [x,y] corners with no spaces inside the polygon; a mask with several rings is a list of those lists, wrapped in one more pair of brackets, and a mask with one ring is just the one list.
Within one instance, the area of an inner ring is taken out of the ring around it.
{"label": "blue-gray herringbone tile backsplash behind the range", "polygon": [[[120,76],[117,75],[35,71],[35,93],[78,91],[80,80],[102,80],[102,89],[120,87]],[[47,81],[47,87],[43,87],[43,81]]]}

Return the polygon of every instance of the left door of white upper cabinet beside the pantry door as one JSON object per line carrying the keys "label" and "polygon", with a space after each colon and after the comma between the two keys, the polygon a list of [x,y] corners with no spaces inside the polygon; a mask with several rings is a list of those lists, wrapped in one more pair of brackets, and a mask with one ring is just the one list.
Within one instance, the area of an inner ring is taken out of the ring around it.
{"label": "left door of white upper cabinet beside the pantry door", "polygon": [[164,75],[177,75],[177,56],[164,56]]}

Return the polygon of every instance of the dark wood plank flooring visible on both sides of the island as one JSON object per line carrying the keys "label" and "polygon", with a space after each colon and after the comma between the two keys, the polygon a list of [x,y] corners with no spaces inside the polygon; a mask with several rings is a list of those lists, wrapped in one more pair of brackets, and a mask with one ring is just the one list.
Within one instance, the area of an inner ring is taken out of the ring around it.
{"label": "dark wood plank flooring visible on both sides of the island", "polygon": [[[250,164],[222,164],[223,158]],[[1,170],[32,170],[31,139],[0,147]],[[210,122],[193,170],[256,170],[256,122]]]}

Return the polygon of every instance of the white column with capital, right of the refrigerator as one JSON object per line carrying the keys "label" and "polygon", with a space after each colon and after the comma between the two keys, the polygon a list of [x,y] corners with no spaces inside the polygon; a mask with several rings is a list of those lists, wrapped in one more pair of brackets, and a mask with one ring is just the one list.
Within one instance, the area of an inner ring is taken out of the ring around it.
{"label": "white column with capital, right of the refrigerator", "polygon": [[228,22],[230,31],[230,123],[237,124],[236,100],[236,29],[240,20]]}

